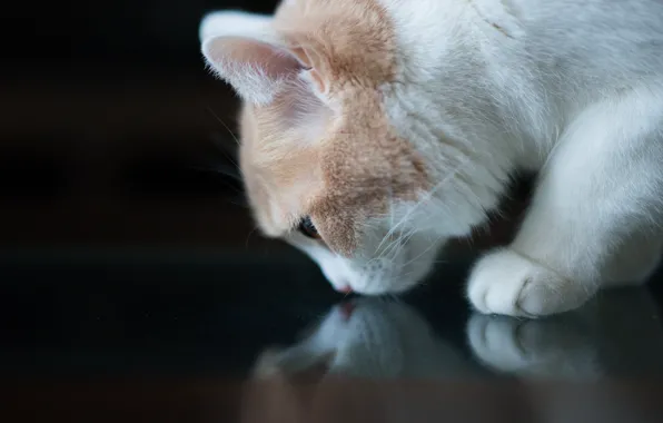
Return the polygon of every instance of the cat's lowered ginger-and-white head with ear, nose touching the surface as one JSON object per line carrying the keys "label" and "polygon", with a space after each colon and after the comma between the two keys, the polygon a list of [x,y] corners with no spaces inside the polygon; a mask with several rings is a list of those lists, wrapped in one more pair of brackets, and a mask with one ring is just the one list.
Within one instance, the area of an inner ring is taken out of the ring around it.
{"label": "cat's lowered ginger-and-white head with ear, nose touching the surface", "polygon": [[447,235],[418,225],[439,173],[402,135],[395,115],[409,119],[405,109],[388,111],[405,82],[378,1],[216,12],[200,38],[210,68],[243,99],[240,168],[261,233],[308,254],[338,291],[419,282]]}

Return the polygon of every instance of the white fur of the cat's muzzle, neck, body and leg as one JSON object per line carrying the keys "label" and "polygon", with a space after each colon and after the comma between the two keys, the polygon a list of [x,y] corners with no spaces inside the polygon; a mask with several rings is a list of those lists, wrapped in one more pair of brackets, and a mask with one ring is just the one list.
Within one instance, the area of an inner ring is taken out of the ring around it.
{"label": "white fur of the cat's muzzle, neck, body and leg", "polygon": [[663,3],[379,1],[399,43],[386,109],[436,185],[373,217],[352,259],[306,249],[332,283],[410,287],[435,263],[427,250],[485,223],[521,169],[540,171],[533,205],[514,243],[472,273],[477,309],[555,314],[603,284],[646,279],[663,239]]}

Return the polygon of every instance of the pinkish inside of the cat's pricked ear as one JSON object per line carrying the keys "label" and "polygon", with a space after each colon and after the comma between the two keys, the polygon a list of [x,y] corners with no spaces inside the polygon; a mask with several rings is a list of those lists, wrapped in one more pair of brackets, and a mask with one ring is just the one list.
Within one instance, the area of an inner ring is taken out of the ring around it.
{"label": "pinkish inside of the cat's pricked ear", "polygon": [[212,62],[229,71],[256,71],[276,80],[303,69],[303,65],[286,49],[250,38],[219,37],[211,41]]}

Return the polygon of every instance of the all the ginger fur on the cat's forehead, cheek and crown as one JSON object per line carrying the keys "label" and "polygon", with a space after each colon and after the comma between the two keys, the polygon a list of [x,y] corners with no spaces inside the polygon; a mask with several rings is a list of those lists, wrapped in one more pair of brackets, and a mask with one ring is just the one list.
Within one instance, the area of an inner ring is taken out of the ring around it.
{"label": "all the ginger fur on the cat's forehead, cheek and crown", "polygon": [[[423,158],[384,109],[382,87],[398,71],[393,22],[376,0],[295,0],[281,3],[270,29],[268,42],[280,42],[274,51],[293,60],[279,59],[271,72],[278,78],[258,72],[263,79],[238,88],[248,92],[240,167],[255,218],[273,237],[308,218],[324,244],[352,256],[368,218],[429,187]],[[219,71],[244,83],[237,65],[224,60]]]}

